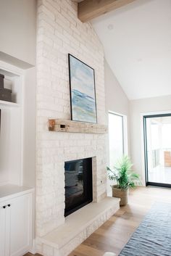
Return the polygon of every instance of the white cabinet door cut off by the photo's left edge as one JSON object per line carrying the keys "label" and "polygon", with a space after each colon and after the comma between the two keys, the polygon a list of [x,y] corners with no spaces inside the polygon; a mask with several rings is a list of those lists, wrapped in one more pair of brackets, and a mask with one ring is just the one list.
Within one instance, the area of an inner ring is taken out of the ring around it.
{"label": "white cabinet door cut off by the photo's left edge", "polygon": [[6,209],[4,205],[0,205],[0,255],[5,255],[5,239],[6,239]]}

